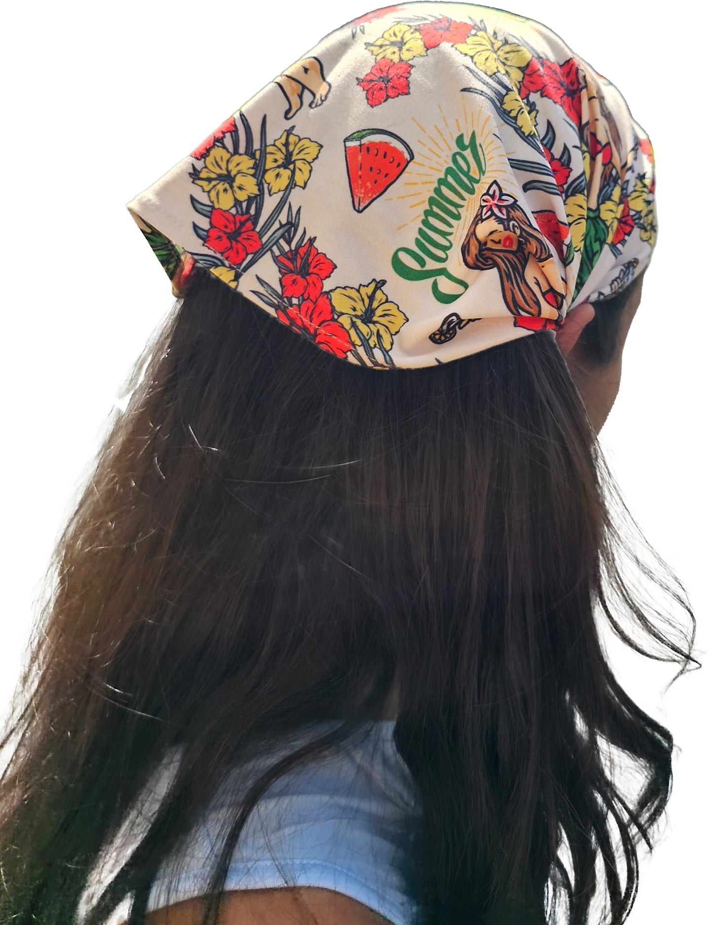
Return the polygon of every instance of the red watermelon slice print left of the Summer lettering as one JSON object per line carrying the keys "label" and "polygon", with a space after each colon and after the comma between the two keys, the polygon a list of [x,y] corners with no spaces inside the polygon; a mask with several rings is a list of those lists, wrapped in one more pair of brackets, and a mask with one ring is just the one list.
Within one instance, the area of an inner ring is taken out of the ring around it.
{"label": "red watermelon slice print left of the Summer lettering", "polygon": [[413,160],[410,146],[385,129],[361,129],[344,138],[351,201],[363,212]]}

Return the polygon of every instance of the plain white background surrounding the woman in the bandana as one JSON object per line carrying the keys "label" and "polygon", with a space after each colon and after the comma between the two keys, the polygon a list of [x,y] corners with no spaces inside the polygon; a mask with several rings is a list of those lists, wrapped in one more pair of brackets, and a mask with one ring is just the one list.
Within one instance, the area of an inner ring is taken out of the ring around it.
{"label": "plain white background surrounding the woman in the bandana", "polygon": [[[681,0],[657,16],[643,2],[521,0],[514,11],[541,19],[613,80],[655,145],[659,244],[602,440],[631,512],[688,589],[706,662],[709,80],[700,35],[709,29],[699,8]],[[323,34],[367,11],[345,0],[40,0],[6,12],[0,715],[57,532],[124,377],[172,305],[124,204]],[[709,668],[662,697],[669,667],[618,650],[613,658],[680,749],[668,822],[643,861],[629,920],[700,922]]]}

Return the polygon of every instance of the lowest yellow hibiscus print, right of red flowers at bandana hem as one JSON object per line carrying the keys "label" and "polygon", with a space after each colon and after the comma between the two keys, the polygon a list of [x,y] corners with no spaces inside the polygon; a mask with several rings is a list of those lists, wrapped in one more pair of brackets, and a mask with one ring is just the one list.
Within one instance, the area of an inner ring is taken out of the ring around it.
{"label": "lowest yellow hibiscus print, right of red flowers at bandana hem", "polygon": [[371,279],[367,286],[359,286],[357,290],[353,286],[342,286],[329,293],[333,310],[356,347],[361,346],[360,332],[371,347],[382,345],[384,350],[391,350],[393,334],[397,334],[408,320],[381,290],[384,283],[385,279]]}

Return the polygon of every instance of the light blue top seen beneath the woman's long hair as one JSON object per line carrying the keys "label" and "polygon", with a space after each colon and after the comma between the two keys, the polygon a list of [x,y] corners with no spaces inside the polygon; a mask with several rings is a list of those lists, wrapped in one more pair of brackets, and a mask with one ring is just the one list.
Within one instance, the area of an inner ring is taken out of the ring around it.
{"label": "light blue top seen beneath the woman's long hair", "polygon": [[[330,725],[313,725],[309,737]],[[406,871],[418,807],[412,777],[393,743],[393,726],[394,721],[369,724],[367,737],[349,739],[273,784],[245,824],[225,889],[323,887],[353,897],[393,925],[411,925],[415,907]],[[301,741],[295,735],[274,748],[269,761],[245,760],[231,772],[189,837],[158,871],[148,911],[206,893],[210,862],[225,837],[226,808],[258,771]],[[100,858],[82,896],[80,920],[140,841],[166,792],[171,767],[169,760]],[[128,903],[106,925],[119,925],[127,914]]]}

